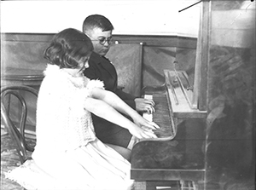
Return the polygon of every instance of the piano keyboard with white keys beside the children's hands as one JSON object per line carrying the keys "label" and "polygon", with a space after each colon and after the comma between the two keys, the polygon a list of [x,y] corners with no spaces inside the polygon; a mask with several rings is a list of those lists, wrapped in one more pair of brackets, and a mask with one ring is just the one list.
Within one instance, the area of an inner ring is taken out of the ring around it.
{"label": "piano keyboard with white keys beside the children's hands", "polygon": [[160,126],[160,129],[154,130],[154,134],[160,139],[173,139],[176,131],[173,118],[171,117],[170,107],[166,98],[166,94],[144,95],[145,99],[153,99],[155,112],[153,114],[143,113],[143,118]]}

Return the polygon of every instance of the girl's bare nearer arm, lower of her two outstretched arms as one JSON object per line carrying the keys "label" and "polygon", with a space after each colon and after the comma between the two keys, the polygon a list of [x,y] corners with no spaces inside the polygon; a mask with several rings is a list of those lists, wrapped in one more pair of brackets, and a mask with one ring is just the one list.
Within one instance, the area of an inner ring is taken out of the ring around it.
{"label": "girl's bare nearer arm, lower of her two outstretched arms", "polygon": [[113,107],[108,105],[108,103],[97,100],[94,98],[87,98],[84,102],[85,109],[95,115],[104,118],[113,124],[118,124],[119,126],[130,131],[131,135],[135,135],[137,138],[156,138],[156,135],[150,130],[138,127],[136,124],[132,123],[131,120],[125,118],[122,114],[117,112]]}

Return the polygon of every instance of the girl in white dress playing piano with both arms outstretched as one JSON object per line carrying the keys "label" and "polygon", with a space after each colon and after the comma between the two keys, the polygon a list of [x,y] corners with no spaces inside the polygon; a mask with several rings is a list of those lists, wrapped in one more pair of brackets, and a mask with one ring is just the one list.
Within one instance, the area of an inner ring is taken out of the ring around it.
{"label": "girl in white dress playing piano with both arms outstretched", "polygon": [[28,189],[131,188],[131,164],[96,138],[90,112],[139,139],[156,137],[157,124],[104,90],[101,81],[84,77],[92,49],[89,37],[69,28],[44,52],[49,64],[38,94],[37,145],[32,160],[9,173]]}

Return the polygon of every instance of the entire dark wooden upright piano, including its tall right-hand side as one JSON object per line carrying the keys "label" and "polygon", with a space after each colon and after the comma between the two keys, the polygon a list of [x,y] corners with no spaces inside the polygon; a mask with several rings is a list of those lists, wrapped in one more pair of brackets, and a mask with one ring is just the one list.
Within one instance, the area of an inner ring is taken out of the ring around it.
{"label": "entire dark wooden upright piano, including its tall right-hand side", "polygon": [[194,83],[174,67],[143,89],[160,130],[131,150],[136,190],[255,189],[255,3],[201,3]]}

